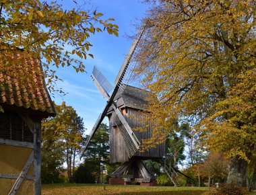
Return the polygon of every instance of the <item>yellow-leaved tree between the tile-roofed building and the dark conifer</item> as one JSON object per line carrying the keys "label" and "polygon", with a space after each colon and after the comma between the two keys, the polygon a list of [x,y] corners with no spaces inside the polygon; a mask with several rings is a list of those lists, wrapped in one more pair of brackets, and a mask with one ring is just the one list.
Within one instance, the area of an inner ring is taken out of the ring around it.
{"label": "yellow-leaved tree between the tile-roofed building and the dark conifer", "polygon": [[[84,122],[71,106],[65,105],[65,102],[60,106],[55,105],[55,109],[57,116],[42,123],[42,137],[51,143],[50,149],[53,146],[54,149],[59,147],[63,150],[62,158],[67,163],[68,182],[72,182],[75,157],[82,146]],[[44,142],[42,144],[44,145]]]}

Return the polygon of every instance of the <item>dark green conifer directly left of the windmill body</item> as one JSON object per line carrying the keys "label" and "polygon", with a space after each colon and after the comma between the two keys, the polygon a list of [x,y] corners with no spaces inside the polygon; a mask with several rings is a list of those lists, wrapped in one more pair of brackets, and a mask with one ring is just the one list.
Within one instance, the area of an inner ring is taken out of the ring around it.
{"label": "dark green conifer directly left of the windmill body", "polygon": [[106,124],[100,124],[100,127],[92,137],[85,152],[85,162],[91,161],[95,168],[91,171],[96,173],[97,183],[100,183],[102,169],[106,167],[109,161],[109,128]]}

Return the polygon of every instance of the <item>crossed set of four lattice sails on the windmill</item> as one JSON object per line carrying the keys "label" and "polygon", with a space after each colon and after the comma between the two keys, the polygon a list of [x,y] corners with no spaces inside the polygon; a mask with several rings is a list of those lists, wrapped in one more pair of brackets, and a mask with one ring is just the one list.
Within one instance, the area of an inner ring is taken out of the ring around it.
{"label": "crossed set of four lattice sails on the windmill", "polygon": [[[144,30],[144,28],[143,28],[143,30]],[[136,46],[139,42],[139,39],[141,38],[141,36],[143,34],[143,30],[139,34],[138,38],[136,38],[133,41],[133,44],[131,45],[131,48],[129,49],[129,52],[128,52],[126,58],[125,58],[125,61],[123,62],[123,65],[122,65],[122,67],[119,71],[119,74],[117,75],[117,78],[115,79],[115,87],[114,87],[113,93],[111,95],[109,95],[108,92],[110,92],[112,89],[110,90],[111,87],[110,87],[109,84],[107,84],[106,78],[104,77],[104,75],[102,75],[102,73],[100,73],[100,71],[98,71],[98,69],[96,69],[96,68],[94,69],[92,79],[94,80],[94,83],[96,83],[96,86],[98,87],[98,89],[100,90],[102,95],[104,95],[104,97],[109,97],[109,99],[108,99],[108,102],[106,103],[106,106],[105,106],[102,114],[100,114],[98,120],[96,121],[96,124],[94,124],[94,128],[92,128],[92,131],[90,132],[90,135],[89,135],[88,139],[86,140],[85,147],[82,149],[81,154],[80,154],[80,159],[82,158],[82,155],[84,154],[84,151],[86,151],[86,149],[88,147],[88,144],[90,143],[90,141],[91,141],[92,137],[94,136],[96,130],[98,129],[102,120],[104,119],[104,116],[106,116],[106,113],[108,112],[108,109],[114,103],[113,100],[115,98],[115,95],[117,94],[117,91],[119,91],[119,88],[121,87],[123,77],[125,77],[126,70],[127,70],[128,66],[129,66],[129,63],[131,61],[131,56],[132,56],[132,54],[133,54],[133,52],[134,52],[134,50],[135,50],[135,48],[136,48]],[[104,84],[104,85],[101,85],[101,83]],[[115,107],[115,105],[114,105],[114,107]],[[116,109],[119,110],[118,108],[116,108]],[[125,126],[127,126],[127,125],[125,125]],[[125,129],[127,129],[127,128],[125,128]],[[131,128],[129,128],[129,129],[131,129]],[[136,139],[133,138],[133,135],[131,134],[130,130],[127,130],[127,132],[129,134],[129,137],[131,138],[131,140],[133,140],[133,143],[134,143],[135,147],[137,149],[139,149],[139,141],[136,141],[137,138]]]}

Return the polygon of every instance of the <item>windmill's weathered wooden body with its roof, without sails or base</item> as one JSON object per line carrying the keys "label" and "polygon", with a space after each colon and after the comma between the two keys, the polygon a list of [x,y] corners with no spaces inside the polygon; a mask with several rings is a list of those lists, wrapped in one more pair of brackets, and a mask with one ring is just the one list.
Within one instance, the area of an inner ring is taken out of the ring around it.
{"label": "windmill's weathered wooden body with its roof, without sails or base", "polygon": [[[139,143],[142,139],[149,139],[152,137],[152,129],[149,127],[144,129],[143,132],[134,130],[137,127],[143,126],[143,111],[146,110],[148,101],[148,91],[126,85],[125,88],[117,93],[114,101],[119,110],[123,114],[125,120],[133,129],[133,133]],[[139,157],[141,159],[158,159],[164,156],[164,143],[152,147],[148,151],[140,152],[137,150],[135,153],[130,153],[131,147],[129,143],[125,143],[125,129],[120,122],[117,114],[110,108],[107,113],[110,127],[110,163],[118,163],[129,161],[131,157]],[[127,141],[126,141],[127,142]]]}

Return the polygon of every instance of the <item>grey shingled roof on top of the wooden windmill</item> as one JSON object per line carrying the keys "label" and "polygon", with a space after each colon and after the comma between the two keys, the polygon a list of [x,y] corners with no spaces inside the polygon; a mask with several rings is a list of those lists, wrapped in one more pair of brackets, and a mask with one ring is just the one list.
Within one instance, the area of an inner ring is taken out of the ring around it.
{"label": "grey shingled roof on top of the wooden windmill", "polygon": [[147,97],[150,92],[131,85],[125,85],[124,87],[125,89],[119,89],[114,98],[114,101],[117,101],[117,106],[146,110],[148,104]]}

